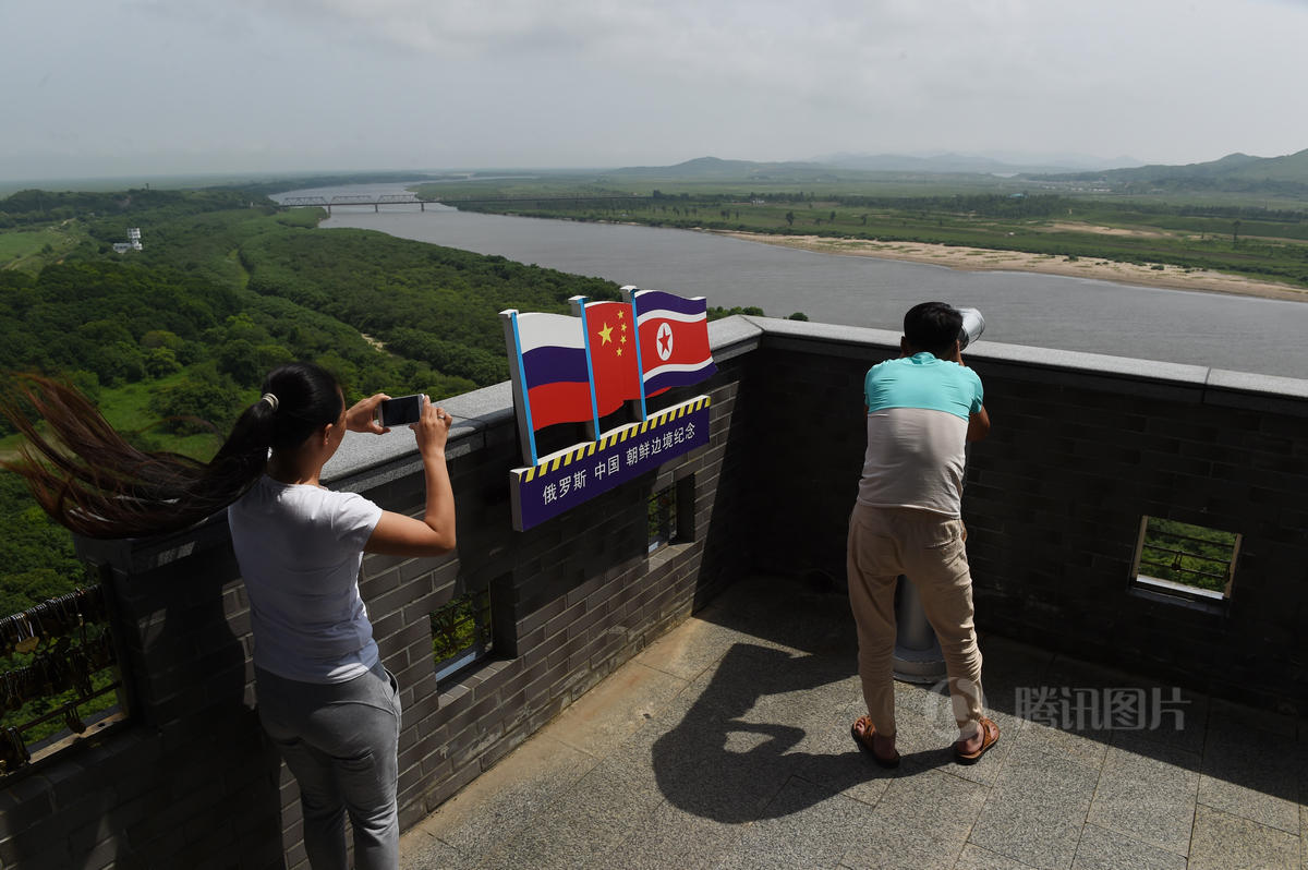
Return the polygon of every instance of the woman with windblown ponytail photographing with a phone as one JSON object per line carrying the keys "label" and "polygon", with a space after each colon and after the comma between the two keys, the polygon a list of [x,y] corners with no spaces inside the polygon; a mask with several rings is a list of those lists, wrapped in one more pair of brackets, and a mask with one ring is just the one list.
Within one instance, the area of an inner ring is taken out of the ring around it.
{"label": "woman with windblown ponytail photographing with a phone", "polygon": [[[215,458],[143,451],[72,387],[16,379],[5,415],[26,436],[22,475],[55,521],[92,538],[158,535],[226,508],[250,597],[259,718],[300,784],[305,849],[315,870],[345,867],[344,819],[358,867],[399,865],[399,688],[381,665],[358,594],[365,552],[454,549],[445,463],[450,415],[422,398],[413,429],[426,483],[421,519],[322,487],[347,430],[383,433],[373,395],[347,408],[324,369],[275,369]],[[33,419],[42,417],[46,430]]]}

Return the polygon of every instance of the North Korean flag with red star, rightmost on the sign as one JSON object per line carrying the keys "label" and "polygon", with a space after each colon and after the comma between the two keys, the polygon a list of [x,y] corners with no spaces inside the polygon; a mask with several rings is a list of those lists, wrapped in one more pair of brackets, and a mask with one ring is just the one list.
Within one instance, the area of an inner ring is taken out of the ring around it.
{"label": "North Korean flag with red star, rightmost on the sign", "polygon": [[641,347],[645,395],[704,381],[714,372],[708,302],[662,290],[630,294]]}

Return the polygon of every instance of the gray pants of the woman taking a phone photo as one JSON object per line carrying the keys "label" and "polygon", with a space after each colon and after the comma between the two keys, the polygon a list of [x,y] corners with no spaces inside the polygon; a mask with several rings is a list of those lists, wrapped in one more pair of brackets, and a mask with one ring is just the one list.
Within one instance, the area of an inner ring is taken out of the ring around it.
{"label": "gray pants of the woman taking a phone photo", "polygon": [[255,669],[259,721],[300,784],[305,850],[314,870],[345,870],[345,814],[354,865],[399,866],[395,806],[400,696],[381,665],[345,683],[301,683]]}

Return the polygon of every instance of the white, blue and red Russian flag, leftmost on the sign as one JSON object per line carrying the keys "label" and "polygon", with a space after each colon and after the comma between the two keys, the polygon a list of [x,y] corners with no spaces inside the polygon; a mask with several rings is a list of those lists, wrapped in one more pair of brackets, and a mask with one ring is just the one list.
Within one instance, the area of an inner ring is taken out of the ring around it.
{"label": "white, blue and red Russian flag, leftmost on the sign", "polygon": [[513,318],[531,430],[591,419],[590,370],[581,318],[530,313]]}

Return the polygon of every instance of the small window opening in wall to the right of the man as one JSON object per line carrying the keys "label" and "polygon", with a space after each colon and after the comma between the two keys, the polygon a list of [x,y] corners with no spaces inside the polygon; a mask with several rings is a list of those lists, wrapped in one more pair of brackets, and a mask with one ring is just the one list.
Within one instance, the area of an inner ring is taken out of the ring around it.
{"label": "small window opening in wall to the right of the man", "polygon": [[1135,546],[1135,585],[1194,600],[1231,597],[1240,535],[1144,517]]}

